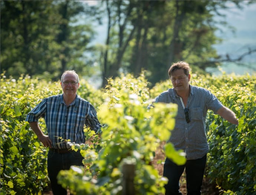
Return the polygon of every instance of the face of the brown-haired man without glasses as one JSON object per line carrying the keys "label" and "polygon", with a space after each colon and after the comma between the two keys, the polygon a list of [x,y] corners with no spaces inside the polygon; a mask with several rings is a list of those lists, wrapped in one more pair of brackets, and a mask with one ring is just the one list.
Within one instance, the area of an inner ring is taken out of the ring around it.
{"label": "face of the brown-haired man without glasses", "polygon": [[189,81],[190,74],[186,75],[183,69],[177,69],[171,75],[171,83],[177,92],[189,90]]}

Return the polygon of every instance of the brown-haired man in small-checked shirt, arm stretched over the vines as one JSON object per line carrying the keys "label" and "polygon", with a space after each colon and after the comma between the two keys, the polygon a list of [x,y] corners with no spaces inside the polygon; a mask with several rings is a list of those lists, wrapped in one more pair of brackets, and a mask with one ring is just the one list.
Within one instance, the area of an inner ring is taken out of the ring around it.
{"label": "brown-haired man in small-checked shirt, arm stretched over the vines", "polygon": [[179,180],[184,169],[187,195],[201,194],[206,156],[209,151],[205,129],[207,110],[213,110],[227,121],[238,124],[234,112],[224,107],[210,91],[189,84],[189,71],[189,64],[184,61],[171,65],[168,75],[173,88],[158,95],[154,101],[178,105],[175,127],[167,142],[171,142],[176,150],[183,149],[187,159],[186,164],[181,166],[168,158],[165,159],[163,176],[168,178],[165,195],[182,195],[179,191]]}

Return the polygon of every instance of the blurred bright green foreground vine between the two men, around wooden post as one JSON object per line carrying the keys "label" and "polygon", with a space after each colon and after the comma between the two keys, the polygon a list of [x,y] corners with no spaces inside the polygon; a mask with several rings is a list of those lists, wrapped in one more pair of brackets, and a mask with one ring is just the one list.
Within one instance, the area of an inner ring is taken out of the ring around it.
{"label": "blurred bright green foreground vine between the two men, around wooden post", "polygon": [[[102,149],[97,154],[92,148],[83,147],[81,152],[85,164],[89,162],[89,169],[85,169],[84,174],[78,167],[61,171],[59,181],[63,186],[69,186],[76,194],[121,194],[122,165],[129,160],[135,164],[136,194],[164,193],[166,180],[158,175],[151,162],[156,148],[168,139],[170,129],[174,127],[177,106],[158,104],[148,110],[148,104],[144,104],[148,96],[146,86],[142,75],[137,79],[126,75],[109,80],[105,102],[98,112],[104,124]],[[184,164],[185,158],[172,145],[169,147],[168,155],[173,156],[175,162]]]}

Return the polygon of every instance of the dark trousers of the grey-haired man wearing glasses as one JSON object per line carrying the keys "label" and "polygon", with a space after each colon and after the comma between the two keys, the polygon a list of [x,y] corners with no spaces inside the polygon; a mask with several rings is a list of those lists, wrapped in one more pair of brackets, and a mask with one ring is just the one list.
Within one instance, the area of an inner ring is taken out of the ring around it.
{"label": "dark trousers of the grey-haired man wearing glasses", "polygon": [[83,157],[80,151],[70,151],[64,154],[58,154],[55,151],[49,150],[47,155],[47,170],[54,195],[66,195],[67,190],[62,188],[57,181],[57,175],[60,170],[67,170],[72,165],[84,166],[82,163]]}

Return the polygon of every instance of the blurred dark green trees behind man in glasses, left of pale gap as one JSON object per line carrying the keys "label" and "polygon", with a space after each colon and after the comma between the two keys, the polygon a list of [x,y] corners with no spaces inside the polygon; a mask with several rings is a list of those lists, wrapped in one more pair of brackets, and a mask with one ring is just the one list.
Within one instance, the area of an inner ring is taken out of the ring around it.
{"label": "blurred dark green trees behind man in glasses, left of pale gap", "polygon": [[[80,1],[0,1],[1,68],[15,79],[21,74],[58,80],[66,69],[91,74],[84,51],[93,37]],[[81,74],[82,74],[81,73]]]}

